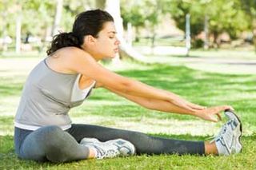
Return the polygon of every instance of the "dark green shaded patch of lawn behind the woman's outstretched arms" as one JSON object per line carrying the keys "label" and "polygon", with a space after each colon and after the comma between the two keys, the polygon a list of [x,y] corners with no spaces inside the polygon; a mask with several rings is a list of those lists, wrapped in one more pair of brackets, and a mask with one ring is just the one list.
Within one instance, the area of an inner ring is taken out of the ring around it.
{"label": "dark green shaded patch of lawn behind the woman's outstretched arms", "polygon": [[[188,69],[183,66],[170,65],[150,65],[148,69],[138,70],[129,69],[118,71],[126,77],[133,77],[148,85],[160,89],[167,89],[180,95],[200,97],[203,95],[214,96],[219,92],[226,92],[226,87],[239,92],[242,85],[246,85],[248,89],[254,89],[255,76],[229,75],[218,73],[203,73],[194,69]],[[239,84],[241,84],[239,86]],[[238,85],[234,89],[232,85]],[[91,100],[106,100],[110,99],[110,95],[102,95],[98,93]],[[112,97],[113,100],[113,97]]]}

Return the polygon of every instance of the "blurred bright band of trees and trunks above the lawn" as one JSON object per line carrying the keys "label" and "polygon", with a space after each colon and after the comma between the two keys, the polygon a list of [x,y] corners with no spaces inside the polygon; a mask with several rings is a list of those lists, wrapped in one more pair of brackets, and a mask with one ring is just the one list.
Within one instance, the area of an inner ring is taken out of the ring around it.
{"label": "blurred bright band of trees and trunks above the lawn", "polygon": [[97,8],[114,16],[121,52],[135,59],[218,49],[254,57],[255,0],[1,0],[1,56],[46,55],[55,34],[70,32],[78,13]]}

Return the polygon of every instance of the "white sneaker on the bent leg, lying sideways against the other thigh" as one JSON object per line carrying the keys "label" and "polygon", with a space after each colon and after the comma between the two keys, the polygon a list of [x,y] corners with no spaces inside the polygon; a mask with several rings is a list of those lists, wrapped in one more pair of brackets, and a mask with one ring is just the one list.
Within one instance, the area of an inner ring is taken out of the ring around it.
{"label": "white sneaker on the bent leg, lying sideways against the other thigh", "polygon": [[135,154],[134,144],[130,141],[116,139],[101,142],[96,138],[83,138],[80,144],[89,148],[94,148],[96,151],[96,158],[111,158],[116,156],[131,156]]}

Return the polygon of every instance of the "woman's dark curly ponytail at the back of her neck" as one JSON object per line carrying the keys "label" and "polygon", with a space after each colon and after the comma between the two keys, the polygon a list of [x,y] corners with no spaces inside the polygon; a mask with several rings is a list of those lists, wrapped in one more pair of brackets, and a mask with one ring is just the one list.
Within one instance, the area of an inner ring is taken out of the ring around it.
{"label": "woman's dark curly ponytail at the back of her neck", "polygon": [[54,39],[50,45],[50,49],[48,49],[46,53],[47,55],[50,55],[58,49],[66,46],[75,46],[81,48],[80,45],[81,43],[78,41],[78,38],[74,35],[74,33],[61,33],[54,36]]}

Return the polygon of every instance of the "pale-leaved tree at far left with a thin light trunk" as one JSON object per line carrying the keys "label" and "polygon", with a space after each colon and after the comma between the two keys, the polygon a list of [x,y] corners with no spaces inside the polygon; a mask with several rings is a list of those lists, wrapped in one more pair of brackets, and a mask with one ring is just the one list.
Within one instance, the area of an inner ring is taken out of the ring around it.
{"label": "pale-leaved tree at far left with a thin light trunk", "polygon": [[[1,21],[3,22],[0,22],[4,33],[2,36],[9,35],[11,38],[16,38],[18,51],[20,39],[26,39],[27,41],[27,35],[29,34],[39,37],[44,35],[46,26],[51,25],[51,21],[53,21],[54,8],[52,7],[53,2],[50,1],[3,0],[0,3],[0,9],[4,11],[4,14],[1,15]],[[16,21],[18,24],[15,23]],[[20,28],[18,30],[16,30],[17,25]]]}

